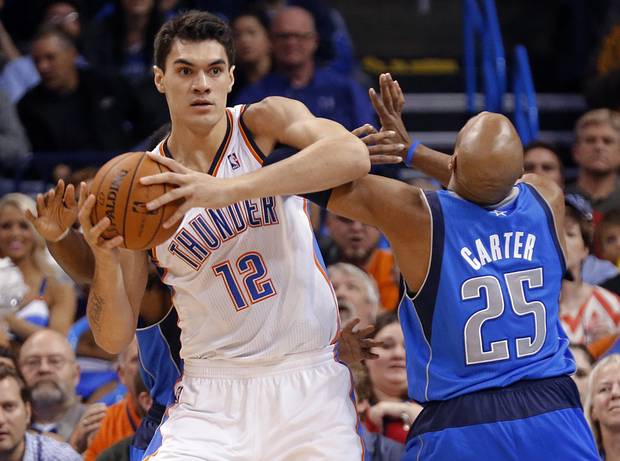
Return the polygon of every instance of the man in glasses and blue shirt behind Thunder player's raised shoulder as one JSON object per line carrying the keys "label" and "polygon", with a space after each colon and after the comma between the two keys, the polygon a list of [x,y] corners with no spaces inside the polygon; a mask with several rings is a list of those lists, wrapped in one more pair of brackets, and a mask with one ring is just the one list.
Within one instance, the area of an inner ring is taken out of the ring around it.
{"label": "man in glasses and blue shirt behind Thunder player's raised shoulder", "polygon": [[239,92],[251,103],[267,96],[302,101],[317,117],[335,120],[349,130],[374,120],[368,95],[355,81],[317,67],[318,36],[312,15],[299,7],[278,11],[271,23],[275,72]]}

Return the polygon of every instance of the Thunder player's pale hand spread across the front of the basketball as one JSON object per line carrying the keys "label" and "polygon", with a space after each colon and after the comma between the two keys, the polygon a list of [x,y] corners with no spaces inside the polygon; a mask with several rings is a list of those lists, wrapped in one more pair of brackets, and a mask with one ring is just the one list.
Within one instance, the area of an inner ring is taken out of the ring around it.
{"label": "Thunder player's pale hand spread across the front of the basketball", "polygon": [[146,204],[149,210],[157,209],[175,200],[184,200],[177,211],[164,223],[164,227],[170,227],[191,208],[222,208],[234,203],[230,190],[225,186],[230,179],[214,178],[213,176],[192,170],[163,155],[149,153],[148,156],[162,165],[168,167],[171,172],[145,176],[140,179],[144,185],[173,184],[177,187],[169,192],[151,200]]}

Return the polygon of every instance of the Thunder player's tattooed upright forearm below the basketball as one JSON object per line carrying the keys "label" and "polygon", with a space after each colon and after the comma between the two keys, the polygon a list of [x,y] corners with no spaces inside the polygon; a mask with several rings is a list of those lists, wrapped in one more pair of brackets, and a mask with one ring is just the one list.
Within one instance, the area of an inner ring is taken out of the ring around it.
{"label": "Thunder player's tattooed upright forearm below the basketball", "polygon": [[119,264],[95,264],[86,314],[95,342],[106,352],[118,354],[131,343],[137,318]]}

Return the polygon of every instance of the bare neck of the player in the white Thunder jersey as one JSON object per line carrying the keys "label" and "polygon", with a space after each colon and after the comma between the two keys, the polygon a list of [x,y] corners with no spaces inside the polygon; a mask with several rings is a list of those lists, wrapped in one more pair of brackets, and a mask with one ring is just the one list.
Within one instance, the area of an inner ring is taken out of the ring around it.
{"label": "bare neck of the player in the white Thunder jersey", "polygon": [[204,173],[209,171],[226,135],[227,120],[224,115],[209,131],[192,130],[187,126],[173,123],[167,142],[174,159],[193,170]]}

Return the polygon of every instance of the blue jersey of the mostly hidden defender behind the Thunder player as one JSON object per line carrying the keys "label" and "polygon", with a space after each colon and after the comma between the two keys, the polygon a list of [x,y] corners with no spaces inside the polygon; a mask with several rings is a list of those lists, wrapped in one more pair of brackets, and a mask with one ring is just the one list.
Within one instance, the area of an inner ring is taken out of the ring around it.
{"label": "blue jersey of the mostly hidden defender behind the Thunder player", "polygon": [[181,331],[174,307],[159,322],[136,329],[141,375],[153,400],[166,407],[174,398],[174,386],[181,378],[183,362]]}

